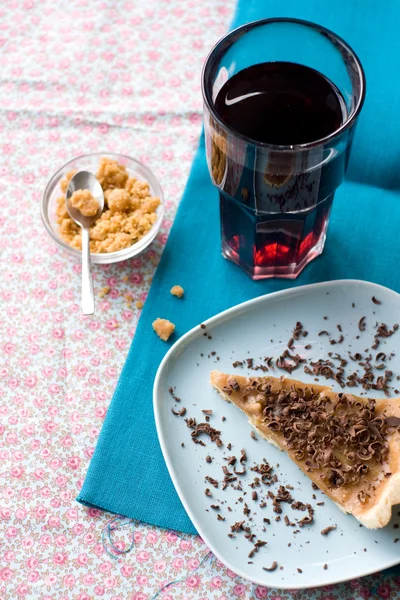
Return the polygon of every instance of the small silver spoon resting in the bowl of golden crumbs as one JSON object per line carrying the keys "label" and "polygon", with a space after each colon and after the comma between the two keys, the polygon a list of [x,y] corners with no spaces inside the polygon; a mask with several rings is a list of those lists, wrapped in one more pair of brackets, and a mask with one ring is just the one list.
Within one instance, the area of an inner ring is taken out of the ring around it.
{"label": "small silver spoon resting in the bowl of golden crumbs", "polygon": [[[99,205],[95,215],[85,217],[72,206],[71,197],[77,190],[89,190]],[[104,193],[98,179],[90,171],[78,171],[68,184],[65,194],[65,205],[71,219],[82,228],[82,312],[84,315],[94,313],[93,280],[90,271],[90,235],[89,228],[98,219],[104,208]]]}

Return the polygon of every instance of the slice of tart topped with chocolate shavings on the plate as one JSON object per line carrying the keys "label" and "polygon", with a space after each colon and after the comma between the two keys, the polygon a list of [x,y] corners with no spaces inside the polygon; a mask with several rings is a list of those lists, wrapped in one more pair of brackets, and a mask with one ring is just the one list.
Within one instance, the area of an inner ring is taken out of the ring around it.
{"label": "slice of tart topped with chocolate shavings on the plate", "polygon": [[211,384],[344,512],[384,527],[400,503],[400,398],[212,371]]}

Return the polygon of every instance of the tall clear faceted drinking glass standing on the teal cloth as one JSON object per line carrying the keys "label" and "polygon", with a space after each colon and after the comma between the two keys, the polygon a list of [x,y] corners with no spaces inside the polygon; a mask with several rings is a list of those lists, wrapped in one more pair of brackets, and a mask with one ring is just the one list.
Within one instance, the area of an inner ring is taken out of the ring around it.
{"label": "tall clear faceted drinking glass standing on the teal cloth", "polygon": [[[296,145],[252,140],[227,125],[215,100],[239,71],[265,62],[305,65],[343,98],[342,124]],[[365,97],[359,59],[340,37],[315,23],[265,19],[228,33],[202,74],[207,163],[219,190],[222,254],[253,279],[294,279],[322,253],[335,190],[342,182]]]}

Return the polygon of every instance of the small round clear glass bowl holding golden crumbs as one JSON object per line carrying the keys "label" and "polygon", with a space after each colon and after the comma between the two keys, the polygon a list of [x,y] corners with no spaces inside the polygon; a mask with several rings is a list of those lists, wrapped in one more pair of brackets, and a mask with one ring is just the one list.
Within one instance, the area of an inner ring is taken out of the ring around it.
{"label": "small round clear glass bowl holding golden crumbs", "polygon": [[132,258],[133,256],[140,254],[140,252],[143,252],[143,250],[147,248],[149,244],[151,244],[159,232],[164,215],[164,198],[162,189],[156,176],[148,167],[139,161],[130,158],[129,156],[124,156],[123,154],[94,152],[93,154],[84,154],[82,156],[78,156],[77,158],[67,162],[63,167],[61,167],[61,169],[59,169],[59,171],[57,171],[57,173],[53,175],[47,184],[42,197],[41,215],[43,224],[46,227],[49,235],[63,250],[80,260],[81,251],[71,248],[71,246],[66,244],[60,238],[58,233],[58,225],[56,220],[57,198],[64,195],[60,187],[60,182],[62,179],[64,179],[68,171],[75,169],[79,171],[91,171],[92,173],[96,173],[100,159],[103,156],[116,160],[118,163],[124,165],[131,177],[136,177],[136,179],[141,181],[147,181],[150,186],[151,195],[160,198],[160,205],[157,208],[157,221],[154,223],[150,231],[138,242],[135,242],[128,248],[118,250],[117,252],[92,252],[90,255],[92,263],[97,265],[120,262],[121,260]]}

